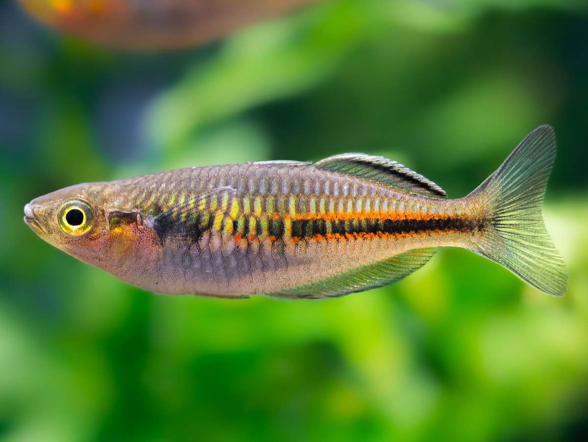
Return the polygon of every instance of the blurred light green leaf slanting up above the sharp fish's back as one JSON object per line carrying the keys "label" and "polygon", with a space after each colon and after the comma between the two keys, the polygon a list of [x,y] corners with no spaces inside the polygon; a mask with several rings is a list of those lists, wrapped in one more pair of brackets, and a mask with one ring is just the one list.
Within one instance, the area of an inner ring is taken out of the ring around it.
{"label": "blurred light green leaf slanting up above the sharp fish's back", "polygon": [[179,148],[203,126],[314,85],[365,38],[372,12],[368,4],[336,2],[234,36],[154,103],[153,142]]}

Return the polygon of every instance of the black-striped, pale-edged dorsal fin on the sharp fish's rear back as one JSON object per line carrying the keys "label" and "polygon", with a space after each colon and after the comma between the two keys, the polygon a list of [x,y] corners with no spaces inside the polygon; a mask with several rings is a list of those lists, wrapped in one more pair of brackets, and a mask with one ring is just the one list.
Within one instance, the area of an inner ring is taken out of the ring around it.
{"label": "black-striped, pale-edged dorsal fin on the sharp fish's rear back", "polygon": [[343,153],[320,160],[315,167],[397,187],[415,195],[447,197],[445,190],[431,180],[385,156]]}

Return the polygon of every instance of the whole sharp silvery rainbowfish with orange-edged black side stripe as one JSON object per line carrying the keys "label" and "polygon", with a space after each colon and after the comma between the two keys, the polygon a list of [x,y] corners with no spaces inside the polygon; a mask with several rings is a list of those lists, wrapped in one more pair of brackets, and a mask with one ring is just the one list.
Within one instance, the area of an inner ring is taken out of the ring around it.
{"label": "whole sharp silvery rainbowfish with orange-edged black side stripe", "polygon": [[188,168],[66,187],[27,204],[25,222],[152,292],[340,296],[400,280],[455,246],[562,295],[567,272],[541,214],[555,154],[553,129],[540,126],[452,200],[382,156]]}

